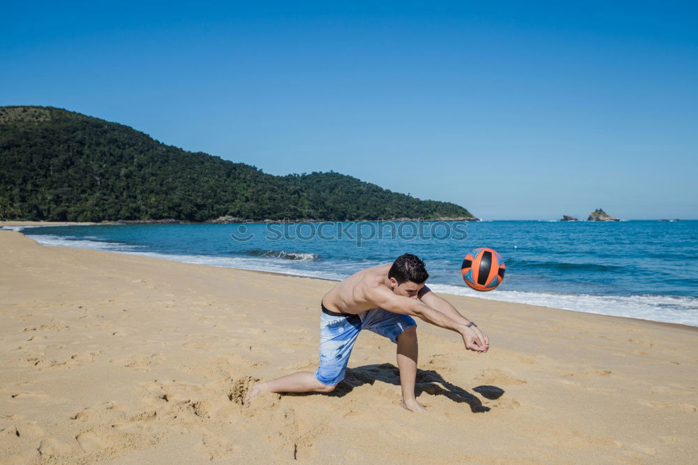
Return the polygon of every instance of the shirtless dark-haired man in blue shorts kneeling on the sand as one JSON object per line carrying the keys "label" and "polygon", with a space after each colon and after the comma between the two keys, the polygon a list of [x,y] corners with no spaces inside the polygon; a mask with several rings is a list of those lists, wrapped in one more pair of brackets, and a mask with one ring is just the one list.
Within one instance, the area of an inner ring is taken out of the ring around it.
{"label": "shirtless dark-haired man in blue shorts kneeling on the sand", "polygon": [[320,367],[256,383],[245,399],[261,392],[332,392],[343,380],[349,355],[361,330],[373,331],[397,344],[402,406],[424,412],[415,398],[418,316],[426,323],[461,334],[477,353],[487,352],[489,339],[450,303],[424,286],[429,274],[424,262],[406,253],[392,265],[367,268],[337,284],[320,307]]}

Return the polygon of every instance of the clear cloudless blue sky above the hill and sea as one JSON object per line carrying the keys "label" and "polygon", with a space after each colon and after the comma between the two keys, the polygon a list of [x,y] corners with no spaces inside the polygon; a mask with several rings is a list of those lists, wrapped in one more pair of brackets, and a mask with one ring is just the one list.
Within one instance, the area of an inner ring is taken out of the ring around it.
{"label": "clear cloudless blue sky above the hill and sea", "polygon": [[15,1],[0,105],[484,219],[695,219],[697,25],[695,1]]}

